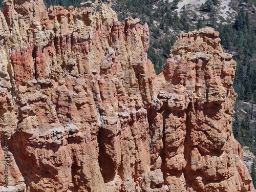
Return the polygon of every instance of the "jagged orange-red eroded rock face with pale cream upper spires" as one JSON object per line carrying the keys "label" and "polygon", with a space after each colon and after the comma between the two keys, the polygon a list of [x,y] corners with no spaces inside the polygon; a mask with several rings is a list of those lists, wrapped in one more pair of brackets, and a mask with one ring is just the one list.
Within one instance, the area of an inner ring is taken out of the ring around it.
{"label": "jagged orange-red eroded rock face with pale cream upper spires", "polygon": [[231,130],[236,62],[214,29],[181,34],[157,76],[148,26],[110,3],[4,4],[0,191],[255,191]]}

